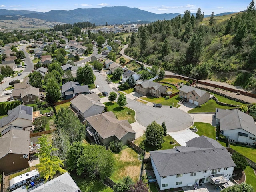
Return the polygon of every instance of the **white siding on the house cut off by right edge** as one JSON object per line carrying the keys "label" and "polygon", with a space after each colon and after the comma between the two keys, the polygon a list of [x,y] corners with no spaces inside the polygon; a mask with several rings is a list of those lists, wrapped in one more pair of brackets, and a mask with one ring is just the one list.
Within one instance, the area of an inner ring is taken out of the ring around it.
{"label": "white siding on the house cut off by right edge", "polygon": [[[232,129],[232,130],[223,130],[223,131],[224,131],[224,133],[222,133],[223,135],[228,137],[230,140],[235,140],[236,142],[238,142],[238,132],[248,134],[248,137],[246,138],[244,143],[250,143],[252,145],[253,142],[256,141],[256,140],[250,139],[250,137],[256,138],[255,135],[253,135],[253,134],[251,134],[248,131],[243,130],[243,129]],[[244,136],[242,136],[242,137],[244,137]]]}

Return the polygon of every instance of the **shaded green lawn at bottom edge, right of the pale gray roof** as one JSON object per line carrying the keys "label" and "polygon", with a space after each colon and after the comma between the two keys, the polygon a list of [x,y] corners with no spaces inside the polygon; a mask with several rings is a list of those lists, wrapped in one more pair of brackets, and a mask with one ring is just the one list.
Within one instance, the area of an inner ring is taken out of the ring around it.
{"label": "shaded green lawn at bottom edge, right of the pale gray roof", "polygon": [[102,181],[89,178],[87,176],[78,176],[70,174],[82,192],[113,192],[113,190],[104,185]]}

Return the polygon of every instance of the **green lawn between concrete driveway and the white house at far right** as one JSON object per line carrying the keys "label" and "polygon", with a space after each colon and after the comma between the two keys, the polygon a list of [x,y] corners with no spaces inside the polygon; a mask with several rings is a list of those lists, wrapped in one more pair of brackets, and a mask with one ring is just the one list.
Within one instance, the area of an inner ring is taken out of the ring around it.
{"label": "green lawn between concrete driveway and the white house at far right", "polygon": [[210,123],[194,123],[194,126],[198,129],[196,134],[199,136],[204,135],[206,137],[210,137],[212,139],[216,138],[216,128],[212,126]]}

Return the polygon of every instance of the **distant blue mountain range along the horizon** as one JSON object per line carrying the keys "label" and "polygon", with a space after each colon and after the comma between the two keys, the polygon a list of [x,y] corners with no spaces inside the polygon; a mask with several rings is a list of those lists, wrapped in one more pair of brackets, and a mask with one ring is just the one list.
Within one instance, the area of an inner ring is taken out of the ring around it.
{"label": "distant blue mountain range along the horizon", "polygon": [[[216,16],[231,14],[234,12],[221,13]],[[170,20],[180,13],[164,13],[156,14],[148,11],[140,10],[138,8],[130,8],[126,6],[102,7],[102,8],[87,8],[74,10],[51,10],[49,12],[36,12],[26,10],[7,10],[0,9],[0,19],[6,16],[20,15],[26,18],[36,18],[52,22],[75,23],[75,22],[94,22],[96,25],[108,24],[123,24],[137,21],[157,21]],[[194,14],[195,13],[191,13]],[[182,14],[183,15],[183,14]],[[208,17],[209,15],[205,15]]]}

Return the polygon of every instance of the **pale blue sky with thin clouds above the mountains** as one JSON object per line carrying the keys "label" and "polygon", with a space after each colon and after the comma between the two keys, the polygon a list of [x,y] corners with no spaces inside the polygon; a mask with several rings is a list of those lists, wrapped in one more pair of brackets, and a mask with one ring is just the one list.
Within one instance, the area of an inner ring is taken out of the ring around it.
{"label": "pale blue sky with thin clouds above the mountains", "polygon": [[128,6],[153,13],[196,12],[198,7],[205,14],[246,10],[251,0],[0,0],[1,9],[72,10],[76,8],[100,8],[104,6]]}

